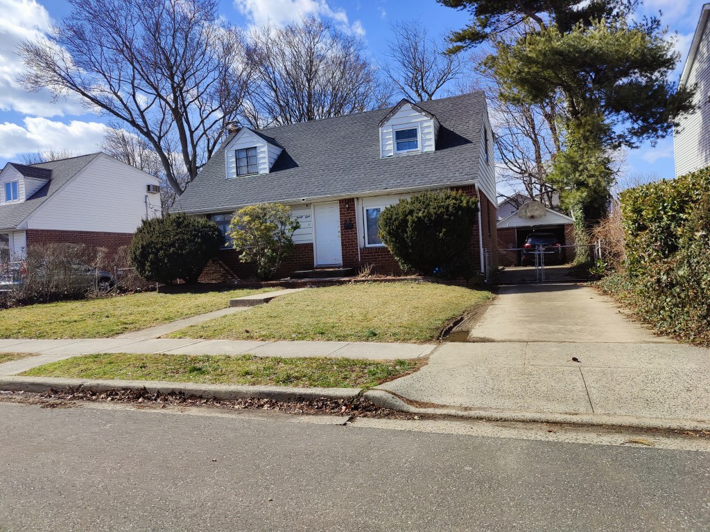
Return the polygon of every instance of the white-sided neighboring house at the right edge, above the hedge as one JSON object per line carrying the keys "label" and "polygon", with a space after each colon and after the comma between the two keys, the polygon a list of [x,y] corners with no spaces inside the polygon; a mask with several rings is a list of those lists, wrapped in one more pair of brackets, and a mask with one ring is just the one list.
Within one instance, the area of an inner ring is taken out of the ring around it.
{"label": "white-sided neighboring house at the right edge, above the hedge", "polygon": [[673,132],[675,175],[710,166],[710,4],[700,12],[680,84],[697,86],[695,113],[683,116]]}

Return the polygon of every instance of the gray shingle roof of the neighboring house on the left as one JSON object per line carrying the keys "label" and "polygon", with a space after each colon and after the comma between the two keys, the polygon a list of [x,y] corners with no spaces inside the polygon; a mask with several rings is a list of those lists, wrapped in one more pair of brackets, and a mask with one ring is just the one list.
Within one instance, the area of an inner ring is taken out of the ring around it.
{"label": "gray shingle roof of the neighboring house on the left", "polygon": [[21,172],[21,174],[27,175],[25,172],[31,174],[27,177],[43,176],[42,179],[50,178],[50,180],[25,201],[10,205],[0,204],[0,228],[9,229],[17,227],[25,218],[30,216],[38,206],[57,192],[63,184],[72,179],[72,177],[82,170],[83,167],[88,165],[89,162],[92,162],[97,155],[99,155],[99,153],[91,153],[89,155],[82,155],[81,157],[40,162],[36,165],[28,166],[18,165],[13,162],[9,163]]}

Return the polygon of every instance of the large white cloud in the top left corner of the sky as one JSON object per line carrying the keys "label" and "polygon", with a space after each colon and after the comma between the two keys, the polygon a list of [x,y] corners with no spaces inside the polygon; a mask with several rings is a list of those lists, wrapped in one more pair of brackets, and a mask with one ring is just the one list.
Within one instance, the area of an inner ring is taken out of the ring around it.
{"label": "large white cloud in the top left corner of the sky", "polygon": [[16,53],[22,40],[41,38],[51,20],[47,10],[35,0],[0,0],[0,110],[34,116],[83,114],[76,100],[52,101],[46,90],[27,92],[17,82],[23,66]]}

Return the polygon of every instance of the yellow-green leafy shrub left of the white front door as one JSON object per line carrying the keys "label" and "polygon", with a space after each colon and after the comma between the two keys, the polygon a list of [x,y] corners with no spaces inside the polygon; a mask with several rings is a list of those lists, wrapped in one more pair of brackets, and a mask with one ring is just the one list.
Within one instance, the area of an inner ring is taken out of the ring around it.
{"label": "yellow-green leafy shrub left of the white front door", "polygon": [[259,279],[271,279],[293,252],[293,232],[300,227],[281,204],[258,204],[240,209],[229,224],[232,245],[242,250],[241,262],[254,262]]}

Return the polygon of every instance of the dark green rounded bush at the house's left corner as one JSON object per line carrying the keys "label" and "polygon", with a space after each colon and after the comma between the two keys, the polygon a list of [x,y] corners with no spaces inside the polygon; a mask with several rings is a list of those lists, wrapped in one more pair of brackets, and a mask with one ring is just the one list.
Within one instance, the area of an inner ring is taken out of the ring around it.
{"label": "dark green rounded bush at the house's left corner", "polygon": [[169,284],[197,282],[202,269],[224,244],[217,224],[185,214],[144,220],[133,235],[129,259],[138,275]]}

